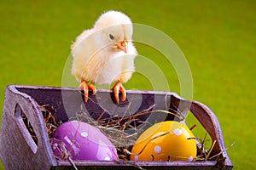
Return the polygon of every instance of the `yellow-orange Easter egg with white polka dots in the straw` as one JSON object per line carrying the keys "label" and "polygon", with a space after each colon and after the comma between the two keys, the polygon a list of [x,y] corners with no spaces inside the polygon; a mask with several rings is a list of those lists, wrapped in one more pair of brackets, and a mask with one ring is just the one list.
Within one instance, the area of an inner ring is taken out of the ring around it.
{"label": "yellow-orange Easter egg with white polka dots in the straw", "polygon": [[143,132],[133,145],[131,161],[193,161],[196,142],[181,122],[159,122]]}

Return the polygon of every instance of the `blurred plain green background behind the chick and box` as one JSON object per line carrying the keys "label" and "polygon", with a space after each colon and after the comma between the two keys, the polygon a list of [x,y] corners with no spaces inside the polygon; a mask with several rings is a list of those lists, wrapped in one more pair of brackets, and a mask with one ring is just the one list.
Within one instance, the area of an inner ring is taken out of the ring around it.
{"label": "blurred plain green background behind the chick and box", "polygon": [[[135,23],[164,31],[183,51],[193,75],[193,99],[218,116],[234,169],[255,169],[256,1],[0,1],[0,115],[8,84],[61,86],[70,44],[97,17],[116,9]],[[137,44],[165,71],[179,94],[172,66]],[[171,70],[170,70],[171,69]],[[126,88],[151,89],[135,74]],[[166,90],[166,89],[160,89]],[[1,150],[0,150],[1,151]],[[21,157],[21,156],[20,156]],[[3,166],[0,165],[0,169]]]}

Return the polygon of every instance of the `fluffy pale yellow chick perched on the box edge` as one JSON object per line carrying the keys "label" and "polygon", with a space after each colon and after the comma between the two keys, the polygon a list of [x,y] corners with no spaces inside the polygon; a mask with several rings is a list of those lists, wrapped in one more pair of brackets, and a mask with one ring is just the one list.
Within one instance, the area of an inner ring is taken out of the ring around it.
{"label": "fluffy pale yellow chick perched on the box edge", "polygon": [[126,99],[122,82],[127,82],[134,69],[137,49],[131,37],[133,26],[125,14],[108,11],[102,14],[90,30],[83,31],[71,50],[73,54],[72,74],[81,82],[79,88],[84,90],[84,100],[88,100],[88,91],[96,94],[96,85],[111,85],[114,97],[119,103]]}

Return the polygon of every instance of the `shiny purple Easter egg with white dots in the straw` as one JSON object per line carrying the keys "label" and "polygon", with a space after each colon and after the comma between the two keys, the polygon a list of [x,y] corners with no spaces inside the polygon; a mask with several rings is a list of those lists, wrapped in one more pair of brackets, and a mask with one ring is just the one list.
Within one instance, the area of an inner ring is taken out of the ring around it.
{"label": "shiny purple Easter egg with white dots in the straw", "polygon": [[117,150],[96,127],[85,122],[70,121],[57,127],[53,134],[52,150],[56,157],[73,160],[113,161]]}

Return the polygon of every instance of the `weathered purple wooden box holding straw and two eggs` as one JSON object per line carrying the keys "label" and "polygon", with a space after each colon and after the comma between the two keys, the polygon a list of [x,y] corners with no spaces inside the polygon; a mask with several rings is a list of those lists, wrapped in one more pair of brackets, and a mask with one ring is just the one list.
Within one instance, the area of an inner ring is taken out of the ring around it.
{"label": "weathered purple wooden box holding straw and two eggs", "polygon": [[[64,96],[64,97],[63,97]],[[111,101],[113,93],[110,90],[98,89],[96,95],[90,94],[90,99],[84,103],[81,91],[78,88],[51,88],[11,85],[6,88],[2,130],[0,133],[0,158],[6,169],[71,169],[69,161],[56,160],[49,144],[49,136],[44,123],[44,117],[38,105],[52,105],[56,112],[57,121],[67,122],[68,117],[74,116],[76,111],[84,107],[91,116],[99,116],[104,109],[114,109],[116,105]],[[127,100],[138,99],[131,106],[131,111],[144,111],[155,104],[158,110],[189,110],[197,118],[207,133],[216,140],[211,155],[222,151],[225,157],[224,169],[232,169],[233,165],[228,156],[223,134],[218,119],[206,106],[196,101],[181,99],[172,92],[133,91],[127,90]],[[120,108],[127,107],[127,100],[119,104]],[[102,108],[101,103],[104,105]],[[136,108],[137,107],[137,108]],[[134,110],[132,110],[134,109]],[[122,110],[122,109],[121,109]],[[26,129],[20,116],[20,111],[26,114],[34,132],[37,135],[37,144]],[[152,114],[153,115],[153,114]],[[148,117],[143,117],[148,119]],[[154,119],[154,117],[153,117]],[[173,116],[166,116],[172,120]],[[124,161],[73,161],[79,169],[136,169],[131,163]],[[217,169],[218,161],[137,161],[137,164],[146,169]]]}

